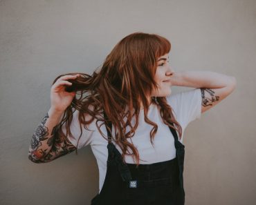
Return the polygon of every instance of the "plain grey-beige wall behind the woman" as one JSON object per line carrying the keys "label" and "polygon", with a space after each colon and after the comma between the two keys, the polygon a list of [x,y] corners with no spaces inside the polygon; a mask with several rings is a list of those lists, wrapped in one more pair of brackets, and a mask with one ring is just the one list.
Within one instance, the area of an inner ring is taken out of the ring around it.
{"label": "plain grey-beige wall behind the woman", "polygon": [[33,164],[28,146],[53,79],[91,73],[136,31],[170,39],[177,72],[237,78],[232,95],[185,130],[186,204],[255,203],[255,0],[1,0],[0,204],[90,204],[98,191],[91,148]]}

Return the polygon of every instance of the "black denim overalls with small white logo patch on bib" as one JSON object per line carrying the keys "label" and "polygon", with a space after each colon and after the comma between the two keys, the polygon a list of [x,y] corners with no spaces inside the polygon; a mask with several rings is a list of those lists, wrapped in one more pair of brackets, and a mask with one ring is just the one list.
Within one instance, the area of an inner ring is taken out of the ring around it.
{"label": "black denim overalls with small white logo patch on bib", "polygon": [[[104,113],[104,118],[107,115]],[[111,121],[106,125],[112,128]],[[174,135],[176,158],[154,164],[127,164],[111,142],[109,143],[107,174],[98,195],[91,200],[91,205],[183,205],[184,145],[178,140],[176,130],[169,127]]]}

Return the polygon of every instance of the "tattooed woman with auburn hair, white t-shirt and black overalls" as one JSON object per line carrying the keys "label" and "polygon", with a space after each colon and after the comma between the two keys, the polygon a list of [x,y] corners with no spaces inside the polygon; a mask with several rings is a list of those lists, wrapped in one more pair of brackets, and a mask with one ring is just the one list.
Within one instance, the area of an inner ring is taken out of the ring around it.
{"label": "tattooed woman with auburn hair, white t-shirt and black overalls", "polygon": [[[164,37],[136,32],[93,75],[57,77],[28,158],[51,162],[90,144],[100,170],[91,204],[184,204],[183,130],[230,95],[236,80],[174,72],[170,49]],[[194,89],[171,95],[171,86]]]}

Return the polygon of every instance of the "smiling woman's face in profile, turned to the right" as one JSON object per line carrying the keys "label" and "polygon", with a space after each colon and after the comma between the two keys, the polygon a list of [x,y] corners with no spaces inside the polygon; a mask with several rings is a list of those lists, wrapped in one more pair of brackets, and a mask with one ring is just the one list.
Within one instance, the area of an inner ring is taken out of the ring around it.
{"label": "smiling woman's face in profile, turned to the right", "polygon": [[169,64],[169,54],[159,57],[157,64],[154,80],[158,84],[158,90],[153,88],[151,97],[167,97],[172,92],[170,77],[174,72]]}

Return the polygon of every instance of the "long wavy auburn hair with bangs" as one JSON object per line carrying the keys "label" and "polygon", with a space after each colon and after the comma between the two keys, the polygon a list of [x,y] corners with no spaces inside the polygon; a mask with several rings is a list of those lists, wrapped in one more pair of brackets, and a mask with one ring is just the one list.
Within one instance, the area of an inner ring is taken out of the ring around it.
{"label": "long wavy auburn hair with bangs", "polygon": [[[135,32],[119,41],[107,55],[100,70],[96,69],[92,75],[80,72],[65,74],[76,75],[79,73],[80,77],[71,80],[73,84],[69,91],[76,91],[77,95],[71,105],[66,108],[60,124],[57,125],[57,135],[64,138],[66,135],[73,137],[70,125],[73,113],[75,110],[79,110],[80,137],[82,136],[82,125],[89,130],[87,125],[96,119],[96,126],[100,134],[107,139],[107,135],[100,130],[100,127],[107,123],[103,115],[104,110],[115,130],[115,134],[114,136],[111,134],[111,138],[122,149],[122,159],[124,160],[125,155],[132,155],[138,165],[140,162],[138,150],[132,141],[127,139],[133,137],[136,132],[140,107],[143,106],[145,122],[153,126],[150,131],[150,141],[152,145],[154,144],[153,139],[158,126],[147,118],[150,105],[147,97],[152,93],[153,88],[156,90],[158,88],[154,81],[158,66],[157,59],[170,52],[170,49],[171,43],[165,37]],[[57,77],[53,84],[62,76]],[[176,121],[172,107],[167,104],[166,98],[151,97],[151,99],[151,103],[159,107],[163,122],[174,128],[181,138],[182,128]],[[133,117],[135,117],[134,126],[131,124]],[[66,124],[66,134],[61,129],[63,124]],[[128,126],[129,132],[127,132]]]}

